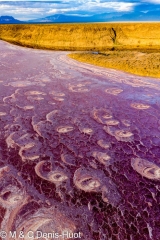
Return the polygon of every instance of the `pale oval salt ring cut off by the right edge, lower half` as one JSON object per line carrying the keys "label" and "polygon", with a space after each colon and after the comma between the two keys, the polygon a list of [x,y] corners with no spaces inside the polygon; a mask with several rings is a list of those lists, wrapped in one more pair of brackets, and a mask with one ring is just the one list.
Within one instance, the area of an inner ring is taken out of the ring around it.
{"label": "pale oval salt ring cut off by the right edge, lower half", "polygon": [[160,180],[160,166],[142,158],[133,158],[131,160],[133,169],[143,177],[153,180]]}

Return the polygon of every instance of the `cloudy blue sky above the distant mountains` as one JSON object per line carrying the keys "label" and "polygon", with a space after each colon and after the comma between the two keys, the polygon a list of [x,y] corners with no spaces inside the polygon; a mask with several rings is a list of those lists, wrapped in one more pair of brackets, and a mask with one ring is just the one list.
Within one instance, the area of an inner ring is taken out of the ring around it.
{"label": "cloudy blue sky above the distant mountains", "polygon": [[42,18],[54,14],[94,15],[100,13],[131,13],[160,11],[160,0],[30,0],[1,1],[0,16],[19,20]]}

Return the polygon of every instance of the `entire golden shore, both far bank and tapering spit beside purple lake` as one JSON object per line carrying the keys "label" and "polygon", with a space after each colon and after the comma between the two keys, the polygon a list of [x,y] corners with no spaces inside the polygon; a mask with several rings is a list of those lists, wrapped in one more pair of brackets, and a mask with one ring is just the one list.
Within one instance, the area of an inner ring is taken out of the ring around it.
{"label": "entire golden shore, both far bank and tapering spit beside purple lake", "polygon": [[84,51],[69,56],[101,67],[160,77],[160,23],[156,22],[1,24],[0,39],[35,49]]}

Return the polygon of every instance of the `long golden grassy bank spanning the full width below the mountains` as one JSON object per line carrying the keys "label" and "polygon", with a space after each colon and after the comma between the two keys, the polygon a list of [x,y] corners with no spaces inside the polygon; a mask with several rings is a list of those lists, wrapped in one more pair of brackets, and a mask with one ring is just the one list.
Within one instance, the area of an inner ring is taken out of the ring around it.
{"label": "long golden grassy bank spanning the full width below the mountains", "polygon": [[157,49],[160,23],[0,25],[0,39],[52,50]]}

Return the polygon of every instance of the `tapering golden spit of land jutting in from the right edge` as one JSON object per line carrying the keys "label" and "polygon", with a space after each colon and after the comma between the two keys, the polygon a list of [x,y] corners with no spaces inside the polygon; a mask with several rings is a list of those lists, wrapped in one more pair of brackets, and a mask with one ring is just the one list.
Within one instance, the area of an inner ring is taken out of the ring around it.
{"label": "tapering golden spit of land jutting in from the right edge", "polygon": [[140,76],[160,78],[160,50],[123,50],[71,53],[80,62],[123,70]]}

